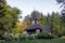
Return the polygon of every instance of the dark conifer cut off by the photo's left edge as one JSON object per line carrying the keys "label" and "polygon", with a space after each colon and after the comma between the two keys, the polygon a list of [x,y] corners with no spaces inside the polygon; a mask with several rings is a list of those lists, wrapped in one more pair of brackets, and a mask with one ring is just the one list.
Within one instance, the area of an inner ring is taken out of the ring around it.
{"label": "dark conifer cut off by the photo's left edge", "polygon": [[[6,1],[5,0],[0,0],[0,31],[5,31],[4,29],[4,25],[5,24],[5,18],[4,16],[8,13],[8,5],[6,5]],[[0,32],[2,33],[2,32]]]}

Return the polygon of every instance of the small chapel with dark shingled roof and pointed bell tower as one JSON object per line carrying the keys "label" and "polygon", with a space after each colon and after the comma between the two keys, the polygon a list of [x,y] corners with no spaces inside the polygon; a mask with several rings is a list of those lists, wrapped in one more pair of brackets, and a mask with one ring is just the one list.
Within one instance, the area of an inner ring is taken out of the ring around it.
{"label": "small chapel with dark shingled roof and pointed bell tower", "polygon": [[39,19],[37,18],[37,12],[34,11],[30,15],[30,25],[27,26],[24,30],[24,32],[47,32],[47,33],[51,33],[51,27],[50,26],[42,26],[41,24],[39,24],[38,22]]}

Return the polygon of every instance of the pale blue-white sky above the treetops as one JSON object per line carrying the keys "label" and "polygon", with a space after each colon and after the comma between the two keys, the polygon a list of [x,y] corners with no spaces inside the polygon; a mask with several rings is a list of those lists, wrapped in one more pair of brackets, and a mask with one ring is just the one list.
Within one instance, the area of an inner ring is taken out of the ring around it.
{"label": "pale blue-white sky above the treetops", "polygon": [[22,11],[22,16],[30,14],[34,10],[42,12],[47,15],[51,12],[61,12],[60,5],[55,0],[6,0],[12,8],[17,8]]}

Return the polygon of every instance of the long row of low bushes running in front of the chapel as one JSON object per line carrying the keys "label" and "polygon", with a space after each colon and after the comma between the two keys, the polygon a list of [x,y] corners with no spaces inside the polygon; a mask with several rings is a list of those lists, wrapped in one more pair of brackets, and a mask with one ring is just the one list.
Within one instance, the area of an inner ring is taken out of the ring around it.
{"label": "long row of low bushes running in front of the chapel", "polygon": [[[15,34],[16,35],[16,34]],[[40,33],[35,33],[35,34],[20,34],[20,35],[16,35],[15,37],[14,34],[8,34],[4,37],[5,40],[9,40],[9,41],[22,41],[22,40],[35,40],[35,39],[54,39],[54,38],[57,38],[56,35],[54,34],[49,34],[49,33],[46,33],[46,32],[40,32]]]}

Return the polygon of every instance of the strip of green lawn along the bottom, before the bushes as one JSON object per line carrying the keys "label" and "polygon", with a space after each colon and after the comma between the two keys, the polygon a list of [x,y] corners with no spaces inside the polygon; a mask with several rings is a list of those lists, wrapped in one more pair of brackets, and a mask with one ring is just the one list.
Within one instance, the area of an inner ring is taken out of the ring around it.
{"label": "strip of green lawn along the bottom, before the bushes", "polygon": [[65,43],[64,39],[53,40],[23,40],[23,41],[0,41],[0,43]]}

